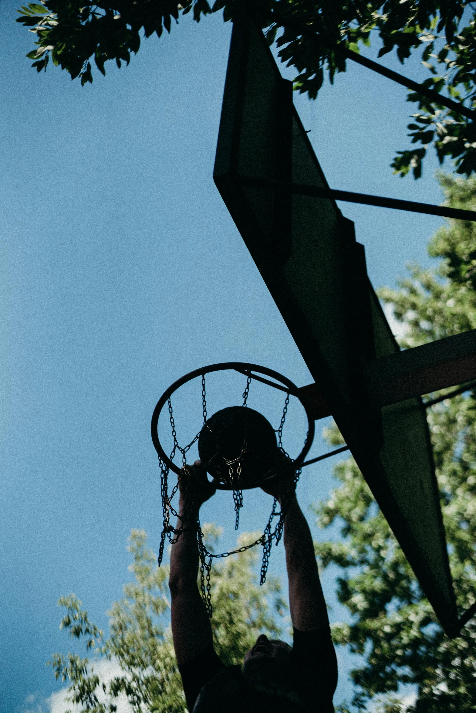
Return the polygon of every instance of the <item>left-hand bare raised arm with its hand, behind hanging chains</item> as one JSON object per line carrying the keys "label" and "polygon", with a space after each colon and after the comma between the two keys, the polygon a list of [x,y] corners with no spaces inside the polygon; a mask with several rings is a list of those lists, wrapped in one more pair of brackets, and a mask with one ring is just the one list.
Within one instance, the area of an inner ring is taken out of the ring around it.
{"label": "left-hand bare raised arm with its hand, behind hanging chains", "polygon": [[[199,463],[200,464],[200,463]],[[196,479],[197,464],[190,468],[188,477]],[[204,476],[201,483],[193,483],[197,506],[211,497],[215,488],[209,486]],[[185,478],[180,481],[179,514],[183,515],[185,506]],[[195,517],[196,513],[192,513]],[[177,520],[177,527],[180,520]],[[210,626],[205,604],[197,586],[198,545],[195,520],[190,528],[180,535],[172,545],[170,553],[170,608],[172,619],[172,638],[177,664],[180,666],[190,661],[212,645],[212,627]]]}

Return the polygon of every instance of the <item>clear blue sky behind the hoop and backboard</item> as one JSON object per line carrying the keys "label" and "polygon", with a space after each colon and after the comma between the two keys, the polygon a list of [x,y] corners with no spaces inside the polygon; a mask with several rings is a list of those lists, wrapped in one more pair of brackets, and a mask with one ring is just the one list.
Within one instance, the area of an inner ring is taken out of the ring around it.
{"label": "clear blue sky behind the hoop and backboard", "polygon": [[[130,576],[130,529],[147,530],[157,550],[150,416],[162,391],[228,360],[264,364],[299,386],[311,380],[212,181],[229,24],[187,16],[170,36],[143,41],[128,68],[106,66],[105,78],[96,73],[81,88],[53,66],[31,70],[33,36],[15,16],[16,3],[3,0],[0,713],[46,706],[58,691],[45,667],[69,646],[58,597],[76,593],[107,628],[105,610]],[[425,76],[416,61],[404,71]],[[419,182],[389,168],[408,145],[402,87],[350,66],[317,101],[295,103],[331,187],[440,202],[433,157]],[[438,218],[341,208],[356,222],[375,286],[393,284],[406,260],[429,264]],[[210,398],[219,404],[227,388],[218,384]],[[255,406],[267,404],[260,394]],[[297,412],[290,421],[297,443],[303,424]],[[313,453],[325,448],[316,438]],[[332,486],[328,461],[308,468],[303,507]],[[262,528],[269,506],[264,494],[247,494],[242,529]],[[223,496],[203,513],[224,525],[226,547],[231,511]],[[326,536],[314,524],[313,533]],[[271,571],[284,572],[282,548]],[[338,620],[332,576],[324,585]],[[336,702],[350,692],[351,663],[340,657]]]}

